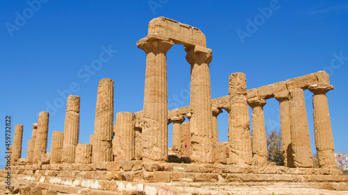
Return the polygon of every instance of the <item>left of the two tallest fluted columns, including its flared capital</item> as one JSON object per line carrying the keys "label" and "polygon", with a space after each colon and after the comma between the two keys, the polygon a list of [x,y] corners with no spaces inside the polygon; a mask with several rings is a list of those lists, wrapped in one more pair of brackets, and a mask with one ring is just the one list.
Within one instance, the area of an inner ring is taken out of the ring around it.
{"label": "left of the two tallest fluted columns, including its flared capital", "polygon": [[168,159],[168,101],[166,53],[173,41],[150,34],[136,45],[145,51],[145,90],[142,147],[144,161]]}

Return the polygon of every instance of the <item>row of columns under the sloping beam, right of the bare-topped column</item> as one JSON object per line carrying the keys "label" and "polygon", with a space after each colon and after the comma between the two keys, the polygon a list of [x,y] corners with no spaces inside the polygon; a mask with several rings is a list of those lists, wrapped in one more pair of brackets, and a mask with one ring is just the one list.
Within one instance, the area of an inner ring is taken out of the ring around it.
{"label": "row of columns under the sloping beam, right of the bare-topped column", "polygon": [[[333,90],[329,84],[319,83],[308,87],[313,92],[313,119],[315,146],[319,167],[337,167],[333,155],[333,135],[326,92]],[[313,167],[308,118],[303,90],[296,88],[275,95],[280,105],[280,128],[285,167]],[[267,139],[264,126],[264,99],[248,99],[253,108],[253,158],[267,162]]]}

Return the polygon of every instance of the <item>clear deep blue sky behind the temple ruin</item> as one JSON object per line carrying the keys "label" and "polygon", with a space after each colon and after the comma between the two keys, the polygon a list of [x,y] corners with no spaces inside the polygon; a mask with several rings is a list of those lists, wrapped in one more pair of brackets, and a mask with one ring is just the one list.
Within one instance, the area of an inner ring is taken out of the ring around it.
{"label": "clear deep blue sky behind the temple ruin", "polygon": [[[67,90],[81,97],[79,142],[88,143],[94,130],[97,83],[102,78],[115,82],[115,113],[143,110],[146,55],[136,42],[148,34],[148,22],[160,16],[205,33],[207,47],[213,51],[213,99],[228,95],[228,76],[236,71],[246,74],[248,89],[328,71],[335,86],[327,94],[335,151],[348,153],[348,1],[42,0],[40,6],[30,2],[0,2],[3,155],[5,116],[12,116],[13,130],[15,124],[24,125],[25,158],[32,124],[48,105],[54,106],[48,110],[50,151],[52,131],[64,130],[66,99],[61,99],[59,92],[66,96]],[[262,10],[271,13],[260,17]],[[245,37],[241,38],[237,32],[242,31]],[[88,70],[92,64],[97,65],[95,60],[104,51],[103,46],[111,47],[111,57],[104,56],[107,59],[102,66],[95,66],[97,70]],[[343,57],[335,60],[335,55]],[[168,51],[169,109],[189,104],[190,65],[185,56],[182,45]],[[70,89],[70,85],[75,86]],[[175,96],[179,100],[174,100]],[[306,105],[315,153],[310,92],[306,93]],[[267,100],[264,112],[267,130],[279,130],[278,101]],[[226,111],[219,115],[220,142],[228,141],[227,119]],[[169,135],[171,128],[172,124]],[[0,158],[1,167],[3,160]]]}

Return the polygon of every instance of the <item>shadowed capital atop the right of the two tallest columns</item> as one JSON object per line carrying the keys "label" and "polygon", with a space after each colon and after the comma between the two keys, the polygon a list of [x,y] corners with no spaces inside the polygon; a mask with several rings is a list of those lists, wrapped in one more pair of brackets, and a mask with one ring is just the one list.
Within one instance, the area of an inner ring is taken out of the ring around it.
{"label": "shadowed capital atop the right of the two tallest columns", "polygon": [[187,52],[186,60],[190,65],[212,62],[212,49],[203,46],[184,46]]}

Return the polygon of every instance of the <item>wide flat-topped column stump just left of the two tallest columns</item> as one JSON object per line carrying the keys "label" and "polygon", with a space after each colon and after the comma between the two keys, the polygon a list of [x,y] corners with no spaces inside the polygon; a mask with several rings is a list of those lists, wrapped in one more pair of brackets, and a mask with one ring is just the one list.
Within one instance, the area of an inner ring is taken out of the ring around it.
{"label": "wide flat-topped column stump just left of the two tallest columns", "polygon": [[115,161],[134,160],[135,115],[132,112],[117,112],[113,155]]}

